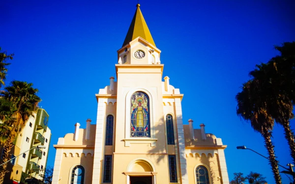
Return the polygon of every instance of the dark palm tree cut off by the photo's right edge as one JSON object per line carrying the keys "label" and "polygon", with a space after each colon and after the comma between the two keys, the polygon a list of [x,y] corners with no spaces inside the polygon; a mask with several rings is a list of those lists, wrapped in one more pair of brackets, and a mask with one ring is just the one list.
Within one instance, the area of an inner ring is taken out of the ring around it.
{"label": "dark palm tree cut off by the photo's right edge", "polygon": [[295,104],[295,42],[286,42],[275,49],[280,51],[281,55],[273,57],[266,64],[257,65],[257,69],[250,72],[250,75],[263,84],[264,94],[270,99],[268,111],[276,123],[283,126],[295,164],[295,136],[290,127]]}

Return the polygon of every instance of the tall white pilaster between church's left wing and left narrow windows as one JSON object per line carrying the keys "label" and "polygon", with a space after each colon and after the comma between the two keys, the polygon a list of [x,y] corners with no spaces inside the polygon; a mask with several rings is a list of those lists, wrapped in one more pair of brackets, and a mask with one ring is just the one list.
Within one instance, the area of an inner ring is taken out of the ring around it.
{"label": "tall white pilaster between church's left wing and left narrow windows", "polygon": [[102,155],[102,132],[104,125],[104,117],[106,114],[106,106],[104,99],[98,99],[97,103],[97,120],[96,120],[96,132],[95,132],[95,147],[94,147],[94,158],[93,158],[93,172],[92,172],[92,184],[100,184],[100,166]]}

